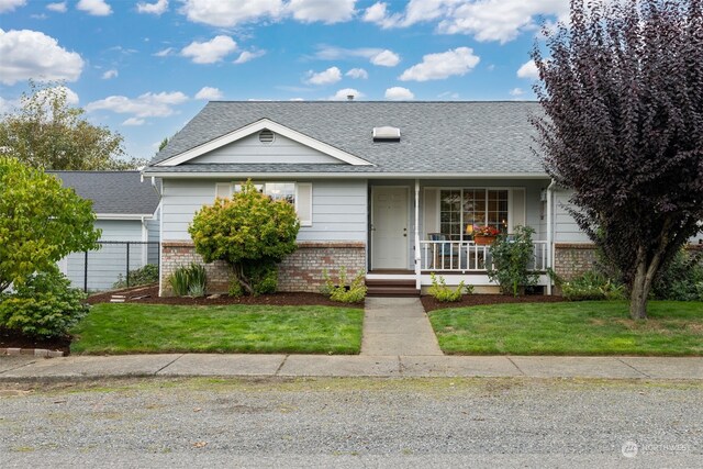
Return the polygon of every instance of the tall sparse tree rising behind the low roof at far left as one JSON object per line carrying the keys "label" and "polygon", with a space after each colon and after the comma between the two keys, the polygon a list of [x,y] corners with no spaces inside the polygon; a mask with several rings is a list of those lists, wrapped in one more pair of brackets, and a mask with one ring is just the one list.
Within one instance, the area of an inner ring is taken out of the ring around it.
{"label": "tall sparse tree rising behind the low roof at far left", "polygon": [[54,170],[130,169],[144,163],[123,159],[122,135],[89,123],[82,109],[69,105],[66,87],[30,81],[30,88],[21,107],[0,120],[0,155]]}

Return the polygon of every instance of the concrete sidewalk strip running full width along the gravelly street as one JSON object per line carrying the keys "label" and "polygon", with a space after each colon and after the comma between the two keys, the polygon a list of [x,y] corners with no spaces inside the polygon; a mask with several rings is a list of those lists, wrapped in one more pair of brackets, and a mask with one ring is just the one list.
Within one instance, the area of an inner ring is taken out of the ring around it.
{"label": "concrete sidewalk strip running full width along the gravelly street", "polygon": [[165,354],[0,357],[0,381],[124,377],[509,377],[703,380],[703,357]]}

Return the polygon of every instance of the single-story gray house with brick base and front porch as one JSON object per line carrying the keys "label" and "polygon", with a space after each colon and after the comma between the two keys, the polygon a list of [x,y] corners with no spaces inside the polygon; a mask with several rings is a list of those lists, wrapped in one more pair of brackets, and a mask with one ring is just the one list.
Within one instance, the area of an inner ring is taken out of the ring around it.
{"label": "single-story gray house with brick base and front porch", "polygon": [[[550,290],[548,267],[583,270],[593,249],[532,150],[539,112],[533,102],[210,102],[143,171],[163,180],[161,288],[200,260],[194,212],[250,178],[300,217],[281,290],[316,291],[323,269],[342,266],[413,288],[432,271],[494,288],[473,224],[532,226],[534,268]],[[208,271],[226,291],[225,266]]]}

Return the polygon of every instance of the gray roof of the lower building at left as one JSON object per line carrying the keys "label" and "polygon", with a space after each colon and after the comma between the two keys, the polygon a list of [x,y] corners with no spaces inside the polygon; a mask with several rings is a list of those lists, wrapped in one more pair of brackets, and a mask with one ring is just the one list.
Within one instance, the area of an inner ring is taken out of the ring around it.
{"label": "gray roof of the lower building at left", "polygon": [[149,180],[141,181],[140,171],[46,171],[72,188],[83,199],[92,200],[98,214],[152,215],[158,196]]}

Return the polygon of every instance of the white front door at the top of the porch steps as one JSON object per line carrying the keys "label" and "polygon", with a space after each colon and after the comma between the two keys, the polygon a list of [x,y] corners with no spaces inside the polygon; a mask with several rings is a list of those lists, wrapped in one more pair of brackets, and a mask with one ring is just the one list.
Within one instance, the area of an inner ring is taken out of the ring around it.
{"label": "white front door at the top of the porch steps", "polygon": [[408,188],[372,188],[371,269],[408,268]]}

